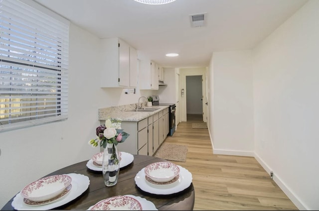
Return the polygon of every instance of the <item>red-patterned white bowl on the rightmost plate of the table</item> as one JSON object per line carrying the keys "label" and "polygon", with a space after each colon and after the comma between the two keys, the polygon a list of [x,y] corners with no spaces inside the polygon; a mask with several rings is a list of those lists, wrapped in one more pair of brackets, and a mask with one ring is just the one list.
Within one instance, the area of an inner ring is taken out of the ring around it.
{"label": "red-patterned white bowl on the rightmost plate of the table", "polygon": [[146,166],[144,172],[151,180],[166,183],[179,174],[179,168],[170,162],[156,162]]}

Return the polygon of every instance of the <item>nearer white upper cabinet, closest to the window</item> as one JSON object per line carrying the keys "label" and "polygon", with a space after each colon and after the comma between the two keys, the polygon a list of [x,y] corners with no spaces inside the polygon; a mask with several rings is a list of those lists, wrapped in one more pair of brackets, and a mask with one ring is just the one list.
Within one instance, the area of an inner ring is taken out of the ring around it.
{"label": "nearer white upper cabinet, closest to the window", "polygon": [[136,87],[136,49],[117,37],[101,39],[101,46],[101,87]]}

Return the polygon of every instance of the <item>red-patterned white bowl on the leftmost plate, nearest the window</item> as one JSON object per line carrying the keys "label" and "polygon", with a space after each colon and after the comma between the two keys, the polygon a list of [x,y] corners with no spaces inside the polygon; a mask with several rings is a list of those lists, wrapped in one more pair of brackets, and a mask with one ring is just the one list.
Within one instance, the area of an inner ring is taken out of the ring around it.
{"label": "red-patterned white bowl on the leftmost plate, nearest the window", "polygon": [[45,202],[61,194],[71,181],[68,175],[44,177],[25,186],[21,196],[33,202]]}

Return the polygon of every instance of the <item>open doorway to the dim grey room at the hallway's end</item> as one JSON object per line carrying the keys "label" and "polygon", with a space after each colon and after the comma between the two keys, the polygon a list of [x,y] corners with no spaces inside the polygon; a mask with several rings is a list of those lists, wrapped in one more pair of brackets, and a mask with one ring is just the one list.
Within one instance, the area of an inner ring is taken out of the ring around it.
{"label": "open doorway to the dim grey room at the hallway's end", "polygon": [[186,76],[186,118],[203,121],[202,76]]}

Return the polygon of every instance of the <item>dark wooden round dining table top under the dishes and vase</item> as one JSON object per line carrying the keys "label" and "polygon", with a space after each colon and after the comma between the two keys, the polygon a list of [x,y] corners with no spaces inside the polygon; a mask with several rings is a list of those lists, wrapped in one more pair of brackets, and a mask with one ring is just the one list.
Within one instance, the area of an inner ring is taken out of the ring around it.
{"label": "dark wooden round dining table top under the dishes and vase", "polygon": [[[164,159],[153,156],[134,155],[133,162],[120,169],[118,183],[112,187],[105,186],[101,171],[93,171],[86,166],[88,160],[54,171],[46,176],[69,173],[82,174],[89,177],[90,185],[82,195],[53,210],[88,210],[101,200],[123,195],[133,195],[144,198],[152,202],[158,210],[193,210],[195,194],[192,183],[188,188],[169,195],[150,194],[141,190],[136,185],[135,176],[141,169],[151,163],[162,161],[167,162]],[[11,206],[13,198],[14,197],[12,197],[1,210],[14,210]]]}

